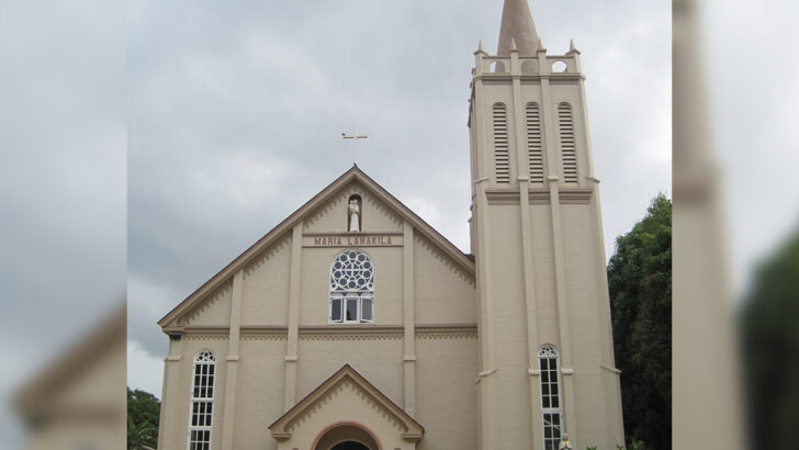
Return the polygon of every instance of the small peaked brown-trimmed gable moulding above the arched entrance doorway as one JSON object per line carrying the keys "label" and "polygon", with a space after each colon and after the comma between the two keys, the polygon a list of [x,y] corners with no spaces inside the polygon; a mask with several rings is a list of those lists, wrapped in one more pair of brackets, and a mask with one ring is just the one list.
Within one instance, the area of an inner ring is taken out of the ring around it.
{"label": "small peaked brown-trimmed gable moulding above the arched entrance doorway", "polygon": [[421,439],[421,436],[425,434],[425,427],[410,417],[403,408],[392,402],[391,398],[383,394],[379,389],[374,387],[372,383],[367,381],[367,379],[358,373],[357,370],[352,369],[350,364],[345,364],[291,409],[274,420],[272,425],[268,427],[272,437],[281,441],[290,439],[292,436],[293,425],[302,419],[302,417],[306,414],[312,414],[314,405],[317,405],[339,384],[347,381],[358,386],[358,389],[361,390],[371,402],[383,409],[387,417],[401,424],[403,428],[403,439],[409,441],[418,441]]}

